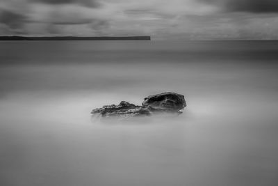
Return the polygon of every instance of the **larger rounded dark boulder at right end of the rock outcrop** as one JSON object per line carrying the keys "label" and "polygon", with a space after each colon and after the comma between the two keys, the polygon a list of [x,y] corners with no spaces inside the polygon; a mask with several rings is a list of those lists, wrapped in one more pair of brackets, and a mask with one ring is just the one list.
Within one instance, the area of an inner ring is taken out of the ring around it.
{"label": "larger rounded dark boulder at right end of the rock outcrop", "polygon": [[163,109],[165,111],[179,111],[186,107],[184,96],[177,93],[160,93],[149,95],[142,102],[143,107],[150,106],[154,109]]}

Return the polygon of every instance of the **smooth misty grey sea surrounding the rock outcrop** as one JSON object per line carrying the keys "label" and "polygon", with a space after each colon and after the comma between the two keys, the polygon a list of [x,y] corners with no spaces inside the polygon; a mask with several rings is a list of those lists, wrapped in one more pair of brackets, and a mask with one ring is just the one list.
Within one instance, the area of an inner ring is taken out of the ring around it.
{"label": "smooth misty grey sea surrounding the rock outcrop", "polygon": [[[0,185],[278,183],[278,42],[0,42]],[[183,114],[104,122],[154,93]]]}

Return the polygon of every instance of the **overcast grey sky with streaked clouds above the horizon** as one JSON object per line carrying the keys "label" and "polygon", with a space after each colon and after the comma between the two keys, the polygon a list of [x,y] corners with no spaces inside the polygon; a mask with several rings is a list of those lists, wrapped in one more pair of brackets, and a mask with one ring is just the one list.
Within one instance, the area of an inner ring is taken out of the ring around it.
{"label": "overcast grey sky with streaked clouds above the horizon", "polygon": [[0,36],[278,39],[277,0],[0,0]]}

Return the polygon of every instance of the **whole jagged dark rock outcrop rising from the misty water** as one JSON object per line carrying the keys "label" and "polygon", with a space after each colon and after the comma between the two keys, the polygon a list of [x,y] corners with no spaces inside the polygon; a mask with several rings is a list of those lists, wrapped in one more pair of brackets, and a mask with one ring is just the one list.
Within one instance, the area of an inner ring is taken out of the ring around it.
{"label": "whole jagged dark rock outcrop rising from the misty water", "polygon": [[149,95],[142,102],[142,106],[122,101],[120,104],[106,105],[99,109],[93,109],[91,114],[104,118],[120,117],[130,118],[134,116],[152,116],[153,114],[181,114],[180,111],[186,107],[184,96],[177,93],[160,93]]}

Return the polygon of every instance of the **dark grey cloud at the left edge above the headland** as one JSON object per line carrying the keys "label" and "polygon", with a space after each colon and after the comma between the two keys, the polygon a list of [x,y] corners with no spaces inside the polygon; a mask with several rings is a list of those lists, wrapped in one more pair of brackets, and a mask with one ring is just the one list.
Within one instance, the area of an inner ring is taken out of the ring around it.
{"label": "dark grey cloud at the left edge above the headland", "polygon": [[0,9],[0,23],[6,24],[12,29],[21,28],[26,21],[26,16],[14,13],[10,10]]}

